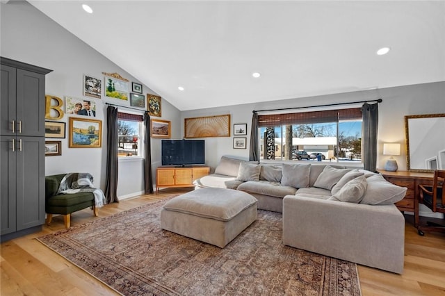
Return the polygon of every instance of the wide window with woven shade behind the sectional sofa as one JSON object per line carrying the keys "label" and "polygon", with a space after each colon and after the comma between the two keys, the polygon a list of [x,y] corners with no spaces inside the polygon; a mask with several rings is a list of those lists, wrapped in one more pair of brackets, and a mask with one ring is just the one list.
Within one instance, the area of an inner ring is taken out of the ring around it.
{"label": "wide window with woven shade behind the sectional sofa", "polygon": [[259,115],[260,159],[362,161],[360,108]]}

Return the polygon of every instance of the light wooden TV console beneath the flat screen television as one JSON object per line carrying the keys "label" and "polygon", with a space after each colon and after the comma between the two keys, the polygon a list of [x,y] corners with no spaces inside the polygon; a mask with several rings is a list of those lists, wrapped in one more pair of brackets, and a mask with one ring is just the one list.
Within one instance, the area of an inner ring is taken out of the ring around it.
{"label": "light wooden TV console beneath the flat screen television", "polygon": [[210,167],[158,167],[156,168],[156,192],[159,188],[169,187],[193,187],[193,181],[207,176]]}

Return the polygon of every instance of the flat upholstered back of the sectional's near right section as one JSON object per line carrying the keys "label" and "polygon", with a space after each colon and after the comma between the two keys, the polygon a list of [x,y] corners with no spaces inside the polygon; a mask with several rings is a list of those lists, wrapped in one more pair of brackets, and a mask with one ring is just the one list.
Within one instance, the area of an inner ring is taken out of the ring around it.
{"label": "flat upholstered back of the sectional's near right section", "polygon": [[371,206],[286,195],[284,245],[401,273],[405,218],[394,204]]}

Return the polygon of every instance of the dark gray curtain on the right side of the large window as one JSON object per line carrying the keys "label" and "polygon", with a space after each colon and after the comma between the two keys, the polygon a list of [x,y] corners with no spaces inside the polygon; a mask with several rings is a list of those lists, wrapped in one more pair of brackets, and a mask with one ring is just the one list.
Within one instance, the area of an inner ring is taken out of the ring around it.
{"label": "dark gray curtain on the right side of the large window", "polygon": [[378,133],[378,103],[363,104],[363,165],[364,170],[375,172],[377,165],[377,133]]}

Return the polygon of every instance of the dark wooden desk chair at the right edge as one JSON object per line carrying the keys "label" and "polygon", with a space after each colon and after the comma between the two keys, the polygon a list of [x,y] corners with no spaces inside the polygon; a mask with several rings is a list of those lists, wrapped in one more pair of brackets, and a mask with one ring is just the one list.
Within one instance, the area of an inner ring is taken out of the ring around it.
{"label": "dark wooden desk chair at the right edge", "polygon": [[[445,190],[444,187],[445,170],[436,170],[432,186],[419,185],[419,204],[428,206],[434,213],[445,213]],[[419,211],[415,213],[416,221],[419,221]],[[445,215],[444,215],[445,222]],[[438,231],[445,233],[445,224],[426,222],[426,225],[418,225],[417,232],[423,236],[423,231]]]}

